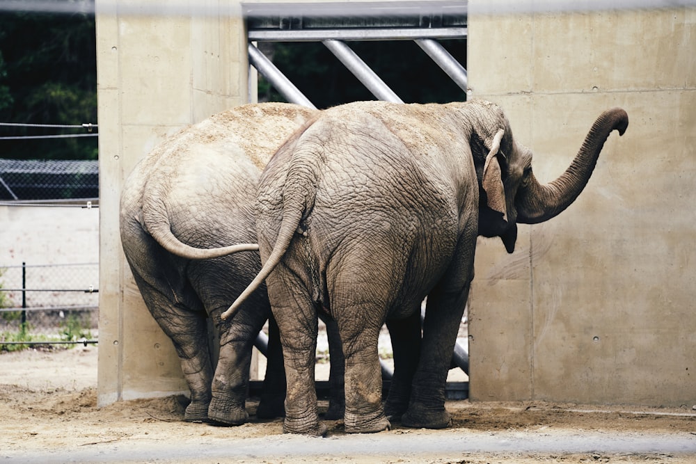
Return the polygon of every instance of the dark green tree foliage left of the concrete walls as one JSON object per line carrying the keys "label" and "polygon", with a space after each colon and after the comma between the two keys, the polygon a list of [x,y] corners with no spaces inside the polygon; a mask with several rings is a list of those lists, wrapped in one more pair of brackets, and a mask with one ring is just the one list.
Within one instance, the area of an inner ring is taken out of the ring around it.
{"label": "dark green tree foliage left of the concrete walls", "polygon": [[[96,123],[96,63],[93,15],[0,13],[0,122]],[[0,128],[0,136],[84,132],[83,129]],[[97,138],[0,140],[0,157],[97,159]]]}

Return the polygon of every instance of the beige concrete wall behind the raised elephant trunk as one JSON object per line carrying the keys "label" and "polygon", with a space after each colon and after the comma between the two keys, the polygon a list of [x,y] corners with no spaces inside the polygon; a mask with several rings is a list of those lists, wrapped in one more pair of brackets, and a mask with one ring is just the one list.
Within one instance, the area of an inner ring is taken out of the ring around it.
{"label": "beige concrete wall behind the raised elephant trunk", "polygon": [[469,6],[470,95],[503,106],[541,182],[569,165],[601,111],[622,106],[630,120],[574,205],[520,227],[512,255],[480,239],[472,399],[690,408],[696,9],[487,15],[490,2]]}

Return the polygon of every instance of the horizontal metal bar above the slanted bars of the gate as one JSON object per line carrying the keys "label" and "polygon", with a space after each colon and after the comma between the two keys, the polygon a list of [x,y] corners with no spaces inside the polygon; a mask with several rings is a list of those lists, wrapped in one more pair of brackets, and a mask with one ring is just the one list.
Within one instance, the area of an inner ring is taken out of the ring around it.
{"label": "horizontal metal bar above the slanted bars of the gate", "polygon": [[411,29],[256,29],[248,39],[258,42],[319,42],[319,40],[416,40],[466,38],[466,27]]}

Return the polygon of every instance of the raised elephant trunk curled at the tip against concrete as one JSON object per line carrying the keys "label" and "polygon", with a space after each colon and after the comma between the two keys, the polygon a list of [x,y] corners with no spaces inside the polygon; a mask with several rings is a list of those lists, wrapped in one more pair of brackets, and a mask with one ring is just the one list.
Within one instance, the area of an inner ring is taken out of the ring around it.
{"label": "raised elephant trunk curled at the tip against concrete", "polygon": [[560,214],[571,205],[590,180],[599,153],[609,134],[616,129],[623,135],[628,115],[620,108],[604,111],[585,137],[583,146],[567,170],[553,182],[539,184],[533,173],[516,198],[517,222],[536,224]]}

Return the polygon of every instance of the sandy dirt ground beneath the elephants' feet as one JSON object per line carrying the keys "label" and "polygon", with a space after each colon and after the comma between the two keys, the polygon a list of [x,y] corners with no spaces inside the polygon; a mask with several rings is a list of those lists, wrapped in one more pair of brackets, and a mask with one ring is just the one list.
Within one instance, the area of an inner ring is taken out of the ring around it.
{"label": "sandy dirt ground beneath the elephants' feet", "polygon": [[[185,399],[97,408],[97,347],[0,354],[5,463],[696,463],[696,410],[449,401],[454,426],[326,438],[182,422]],[[320,406],[324,406],[320,404]],[[248,402],[251,414],[255,403]]]}

